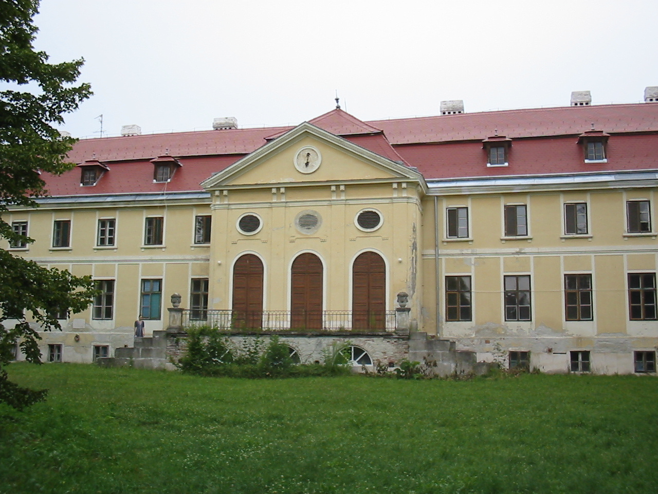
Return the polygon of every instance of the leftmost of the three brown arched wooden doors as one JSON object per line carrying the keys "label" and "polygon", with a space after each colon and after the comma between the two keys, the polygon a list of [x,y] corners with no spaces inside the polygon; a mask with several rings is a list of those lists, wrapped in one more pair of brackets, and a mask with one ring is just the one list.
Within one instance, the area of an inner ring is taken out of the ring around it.
{"label": "leftmost of the three brown arched wooden doors", "polygon": [[263,326],[263,263],[253,254],[240,256],[233,267],[233,325]]}

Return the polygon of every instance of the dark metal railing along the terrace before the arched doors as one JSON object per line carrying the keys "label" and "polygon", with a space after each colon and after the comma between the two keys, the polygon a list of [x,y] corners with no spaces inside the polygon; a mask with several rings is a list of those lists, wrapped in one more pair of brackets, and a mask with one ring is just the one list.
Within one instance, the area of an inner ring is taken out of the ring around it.
{"label": "dark metal railing along the terrace before the arched doors", "polygon": [[215,327],[225,331],[293,331],[299,333],[395,331],[395,311],[359,313],[351,310],[318,312],[264,310],[184,310],[183,327]]}

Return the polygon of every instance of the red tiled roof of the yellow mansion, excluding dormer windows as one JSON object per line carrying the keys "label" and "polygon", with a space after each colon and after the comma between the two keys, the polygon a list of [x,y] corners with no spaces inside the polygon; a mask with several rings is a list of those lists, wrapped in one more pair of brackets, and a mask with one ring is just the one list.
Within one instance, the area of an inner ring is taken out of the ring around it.
{"label": "red tiled roof of the yellow mansion, excluding dormer windows", "polygon": [[[463,113],[438,117],[361,122],[340,109],[310,123],[343,136],[393,161],[417,167],[433,178],[591,173],[658,169],[658,104],[595,105]],[[610,134],[607,163],[586,164],[578,136],[592,130]],[[205,130],[80,140],[69,158],[95,159],[110,170],[96,186],[80,186],[80,169],[43,177],[53,196],[202,190],[199,184],[291,127]],[[508,167],[486,167],[482,141],[511,138]],[[622,134],[622,135],[619,135]],[[625,134],[625,135],[624,135]],[[184,165],[167,184],[153,183],[161,156]]]}

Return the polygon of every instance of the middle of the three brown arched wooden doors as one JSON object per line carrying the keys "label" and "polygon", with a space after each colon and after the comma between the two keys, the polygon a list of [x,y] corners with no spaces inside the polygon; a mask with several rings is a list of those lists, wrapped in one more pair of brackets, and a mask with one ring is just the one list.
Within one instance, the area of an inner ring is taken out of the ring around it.
{"label": "middle of the three brown arched wooden doors", "polygon": [[291,329],[322,329],[322,261],[315,254],[301,254],[290,277]]}

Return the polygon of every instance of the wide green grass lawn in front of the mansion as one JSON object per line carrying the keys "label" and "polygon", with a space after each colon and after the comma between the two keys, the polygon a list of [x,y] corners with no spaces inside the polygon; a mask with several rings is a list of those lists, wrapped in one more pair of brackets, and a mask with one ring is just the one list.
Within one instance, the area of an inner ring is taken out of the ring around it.
{"label": "wide green grass lawn in front of the mansion", "polygon": [[658,380],[248,380],[12,364],[0,493],[655,493]]}

